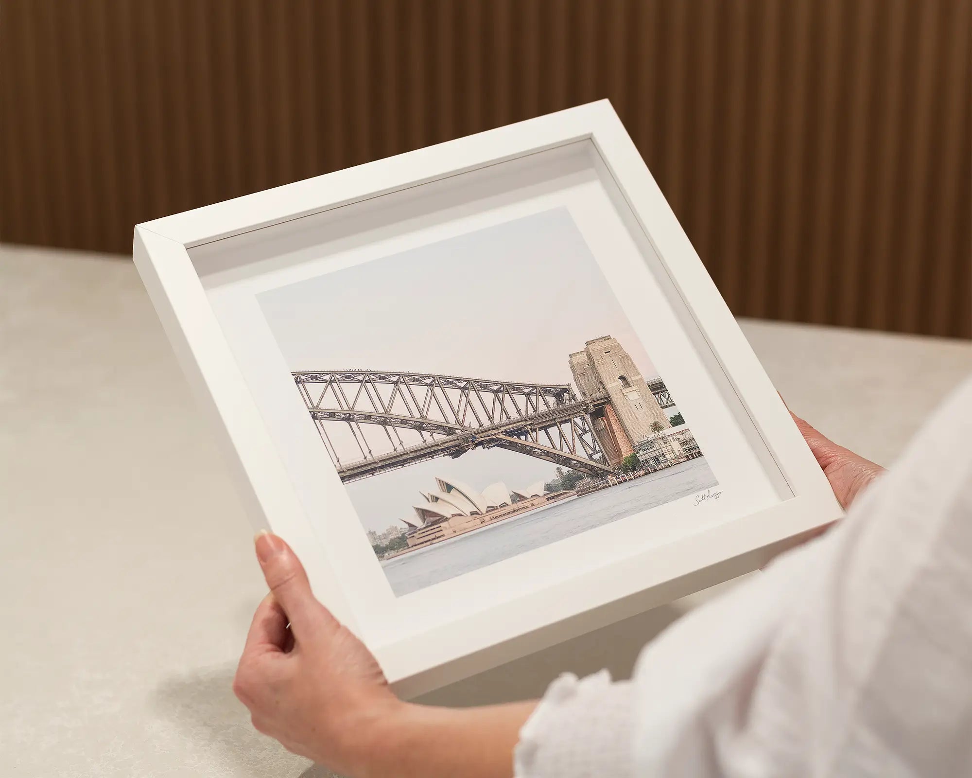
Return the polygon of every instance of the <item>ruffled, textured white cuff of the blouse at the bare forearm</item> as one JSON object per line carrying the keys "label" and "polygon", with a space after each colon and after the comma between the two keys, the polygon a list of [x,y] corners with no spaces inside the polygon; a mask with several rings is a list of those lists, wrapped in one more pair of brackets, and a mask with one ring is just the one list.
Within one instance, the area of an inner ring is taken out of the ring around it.
{"label": "ruffled, textured white cuff of the blouse at the bare forearm", "polygon": [[516,778],[631,778],[634,700],[607,670],[554,681],[520,730]]}

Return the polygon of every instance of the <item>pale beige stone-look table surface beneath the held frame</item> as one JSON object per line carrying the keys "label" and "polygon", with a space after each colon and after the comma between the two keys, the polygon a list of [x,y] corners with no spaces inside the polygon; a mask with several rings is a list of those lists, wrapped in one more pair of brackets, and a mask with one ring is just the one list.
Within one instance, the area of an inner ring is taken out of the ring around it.
{"label": "pale beige stone-look table surface beneath the held frame", "polygon": [[[795,412],[883,464],[972,371],[968,341],[742,325]],[[263,585],[224,463],[131,263],[0,247],[0,410],[6,770],[328,775],[255,732],[229,689]],[[427,700],[529,697],[565,670],[624,676],[645,641],[710,596]]]}

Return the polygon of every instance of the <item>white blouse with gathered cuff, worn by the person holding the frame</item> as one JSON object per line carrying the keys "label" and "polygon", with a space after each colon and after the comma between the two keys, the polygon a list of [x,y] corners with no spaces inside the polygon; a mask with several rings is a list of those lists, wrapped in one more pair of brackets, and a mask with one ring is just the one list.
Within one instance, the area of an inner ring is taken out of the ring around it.
{"label": "white blouse with gathered cuff, worn by the person holding the frame", "polygon": [[632,681],[554,682],[515,767],[972,778],[972,380],[838,526],[677,621]]}

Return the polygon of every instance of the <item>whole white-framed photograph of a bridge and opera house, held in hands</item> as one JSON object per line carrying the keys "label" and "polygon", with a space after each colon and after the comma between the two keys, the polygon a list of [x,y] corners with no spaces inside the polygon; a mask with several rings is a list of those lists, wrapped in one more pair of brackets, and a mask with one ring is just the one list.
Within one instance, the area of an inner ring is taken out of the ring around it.
{"label": "whole white-framed photograph of a bridge and opera house, held in hands", "polygon": [[135,228],[254,523],[404,696],[840,515],[607,101]]}

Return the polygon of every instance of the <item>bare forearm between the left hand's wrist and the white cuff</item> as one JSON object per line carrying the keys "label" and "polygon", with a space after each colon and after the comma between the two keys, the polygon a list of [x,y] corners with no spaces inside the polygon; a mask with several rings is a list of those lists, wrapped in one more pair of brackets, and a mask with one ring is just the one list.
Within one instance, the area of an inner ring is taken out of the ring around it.
{"label": "bare forearm between the left hand's wrist and the white cuff", "polygon": [[401,703],[359,756],[358,778],[509,778],[537,701],[478,708]]}

